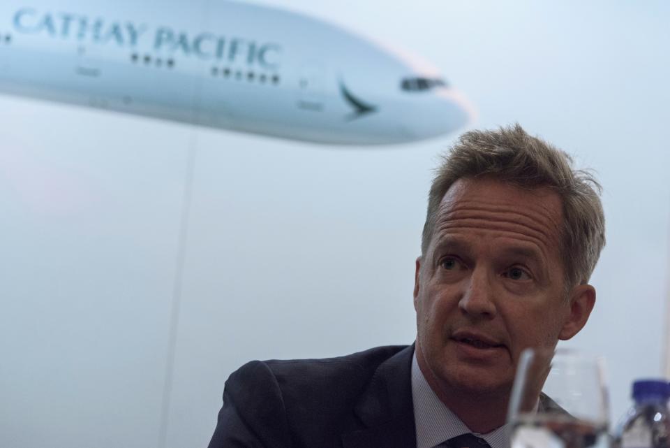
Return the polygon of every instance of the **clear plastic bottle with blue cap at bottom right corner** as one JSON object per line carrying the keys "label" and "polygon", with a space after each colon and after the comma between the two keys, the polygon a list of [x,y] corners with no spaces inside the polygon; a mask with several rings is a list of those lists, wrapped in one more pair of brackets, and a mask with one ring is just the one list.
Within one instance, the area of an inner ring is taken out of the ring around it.
{"label": "clear plastic bottle with blue cap at bottom right corner", "polygon": [[670,448],[670,384],[666,380],[633,383],[635,405],[619,424],[614,446],[618,448]]}

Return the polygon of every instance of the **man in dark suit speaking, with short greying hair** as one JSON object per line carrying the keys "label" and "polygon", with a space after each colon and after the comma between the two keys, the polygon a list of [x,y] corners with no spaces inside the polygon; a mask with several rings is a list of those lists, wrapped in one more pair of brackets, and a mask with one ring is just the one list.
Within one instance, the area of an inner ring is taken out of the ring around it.
{"label": "man in dark suit speaking, with short greying hair", "polygon": [[572,338],[595,303],[600,186],[571,164],[519,125],[461,136],[429,194],[415,345],[248,363],[209,447],[504,448],[519,354]]}

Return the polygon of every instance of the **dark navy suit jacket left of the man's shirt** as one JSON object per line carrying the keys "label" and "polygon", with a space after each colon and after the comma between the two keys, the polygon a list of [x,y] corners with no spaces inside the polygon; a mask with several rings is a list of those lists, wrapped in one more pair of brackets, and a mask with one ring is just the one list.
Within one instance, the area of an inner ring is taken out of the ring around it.
{"label": "dark navy suit jacket left of the man's shirt", "polygon": [[415,448],[412,353],[247,363],[225,382],[209,448]]}

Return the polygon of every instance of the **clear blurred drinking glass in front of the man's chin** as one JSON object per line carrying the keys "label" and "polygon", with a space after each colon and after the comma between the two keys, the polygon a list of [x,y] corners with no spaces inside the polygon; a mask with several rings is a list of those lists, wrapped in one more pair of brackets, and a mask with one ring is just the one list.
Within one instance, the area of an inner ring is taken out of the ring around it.
{"label": "clear blurred drinking glass in front of the man's chin", "polygon": [[603,360],[570,349],[526,349],[507,423],[511,448],[608,448]]}

